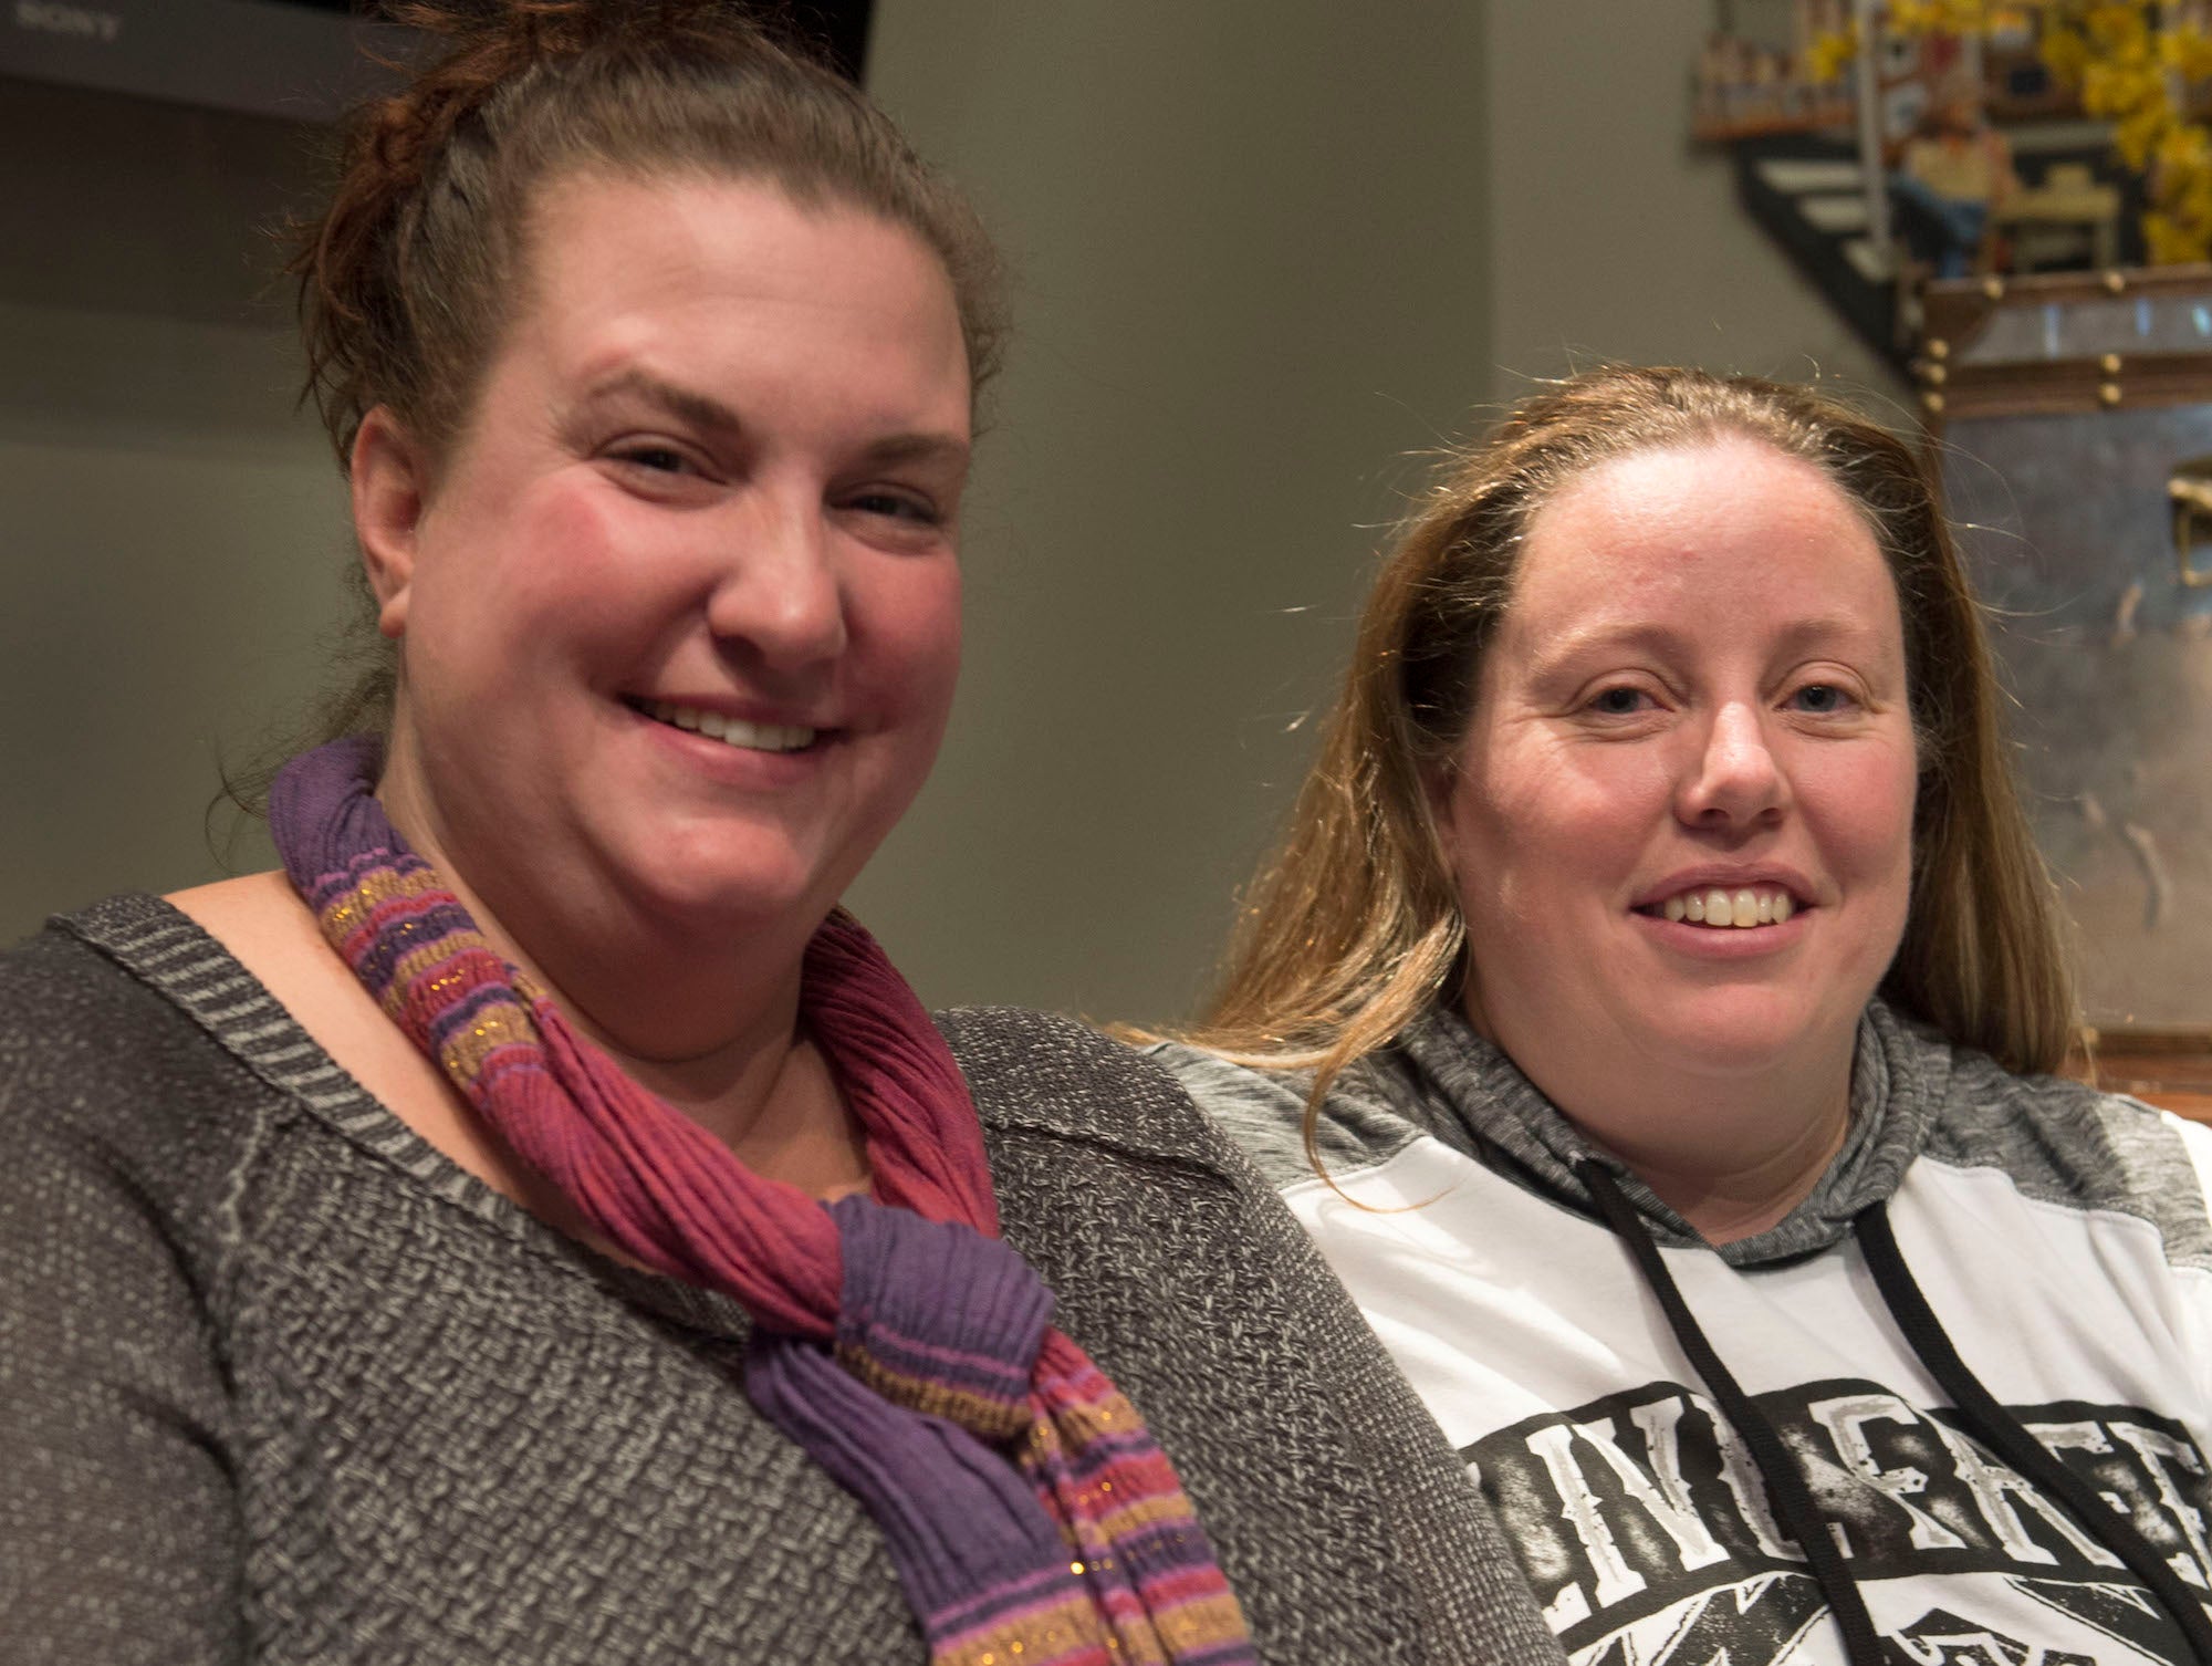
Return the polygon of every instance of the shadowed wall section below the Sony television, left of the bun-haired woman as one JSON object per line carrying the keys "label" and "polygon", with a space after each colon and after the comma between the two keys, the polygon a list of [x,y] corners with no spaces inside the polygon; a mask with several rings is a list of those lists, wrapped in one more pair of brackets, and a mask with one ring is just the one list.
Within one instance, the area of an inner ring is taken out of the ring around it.
{"label": "shadowed wall section below the Sony television, left of the bun-haired woman", "polygon": [[219,759],[316,686],[347,535],[268,288],[307,139],[0,82],[0,943],[217,876]]}

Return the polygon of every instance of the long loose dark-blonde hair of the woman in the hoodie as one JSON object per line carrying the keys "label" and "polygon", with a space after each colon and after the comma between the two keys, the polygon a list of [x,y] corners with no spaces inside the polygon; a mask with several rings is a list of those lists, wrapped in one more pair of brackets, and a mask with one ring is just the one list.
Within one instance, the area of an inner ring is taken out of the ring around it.
{"label": "long loose dark-blonde hair of the woman in the hoodie", "polygon": [[1898,586],[1920,788],[1911,905],[1882,998],[2006,1069],[2057,1069],[2075,1007],[2055,896],[1927,462],[1803,387],[1637,367],[1528,398],[1416,504],[1367,597],[1290,827],[1245,894],[1221,989],[1186,1040],[1312,1069],[1318,1106],[1343,1069],[1458,993],[1482,945],[1467,940],[1429,783],[1467,735],[1528,524],[1601,462],[1730,434],[1818,467],[1865,516]]}

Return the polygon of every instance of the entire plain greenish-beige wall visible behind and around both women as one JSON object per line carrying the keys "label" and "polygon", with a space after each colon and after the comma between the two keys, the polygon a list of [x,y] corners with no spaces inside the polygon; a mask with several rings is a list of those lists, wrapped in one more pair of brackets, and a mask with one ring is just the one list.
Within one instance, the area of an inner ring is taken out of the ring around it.
{"label": "entire plain greenish-beige wall visible behind and around both women", "polygon": [[[1407,458],[1504,367],[1869,374],[1681,139],[1703,18],[878,0],[1020,314],[953,737],[854,896],[929,1000],[1192,1000]],[[0,82],[0,938],[221,872],[217,757],[316,686],[343,502],[252,254],[305,137]]]}

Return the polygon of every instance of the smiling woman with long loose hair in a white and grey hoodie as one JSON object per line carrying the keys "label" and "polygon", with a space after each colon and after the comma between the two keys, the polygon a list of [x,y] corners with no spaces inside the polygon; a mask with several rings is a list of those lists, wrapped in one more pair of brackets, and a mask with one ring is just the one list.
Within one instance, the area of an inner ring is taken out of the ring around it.
{"label": "smiling woman with long loose hair in a white and grey hoodie", "polygon": [[2073,1020],[1916,447],[1597,369],[1369,597],[1164,1047],[1577,1662],[2212,1662],[2212,1137]]}

